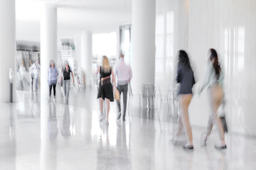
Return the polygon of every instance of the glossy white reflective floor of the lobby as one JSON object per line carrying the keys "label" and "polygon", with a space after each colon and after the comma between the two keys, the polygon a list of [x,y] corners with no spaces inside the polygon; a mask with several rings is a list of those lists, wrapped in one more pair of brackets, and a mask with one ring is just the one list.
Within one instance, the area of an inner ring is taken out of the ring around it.
{"label": "glossy white reflective floor of the lobby", "polygon": [[[95,90],[71,91],[70,103],[38,103],[38,94],[18,92],[17,103],[1,103],[0,169],[255,169],[256,139],[226,135],[228,149],[218,151],[213,130],[201,147],[203,128],[193,127],[194,151],[172,145],[174,124],[131,109],[117,122],[99,123]],[[42,109],[40,108],[42,107]],[[41,112],[42,111],[42,112]],[[168,111],[166,111],[167,114]],[[143,115],[143,116],[142,116]],[[161,128],[160,128],[161,125]]]}

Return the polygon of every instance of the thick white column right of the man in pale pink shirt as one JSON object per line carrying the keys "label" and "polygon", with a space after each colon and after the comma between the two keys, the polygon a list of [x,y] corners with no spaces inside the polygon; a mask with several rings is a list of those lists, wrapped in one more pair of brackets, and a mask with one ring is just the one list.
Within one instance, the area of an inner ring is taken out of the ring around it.
{"label": "thick white column right of the man in pale pink shirt", "polygon": [[155,0],[132,1],[132,90],[154,84],[155,77]]}

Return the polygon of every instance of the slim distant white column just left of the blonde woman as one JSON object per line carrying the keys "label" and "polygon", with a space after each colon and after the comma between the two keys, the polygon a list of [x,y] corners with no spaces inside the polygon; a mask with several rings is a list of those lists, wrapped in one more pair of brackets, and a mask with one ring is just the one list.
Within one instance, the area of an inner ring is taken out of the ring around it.
{"label": "slim distant white column just left of the blonde woman", "polygon": [[85,72],[85,86],[92,85],[92,32],[84,31],[81,38],[81,67]]}

